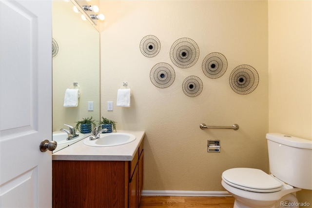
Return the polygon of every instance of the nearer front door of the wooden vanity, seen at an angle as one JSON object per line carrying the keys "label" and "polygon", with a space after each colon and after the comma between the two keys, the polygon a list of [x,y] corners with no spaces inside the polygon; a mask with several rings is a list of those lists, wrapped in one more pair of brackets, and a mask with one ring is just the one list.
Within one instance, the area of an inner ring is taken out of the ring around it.
{"label": "nearer front door of the wooden vanity, seen at an angle", "polygon": [[138,166],[129,183],[129,208],[138,208]]}

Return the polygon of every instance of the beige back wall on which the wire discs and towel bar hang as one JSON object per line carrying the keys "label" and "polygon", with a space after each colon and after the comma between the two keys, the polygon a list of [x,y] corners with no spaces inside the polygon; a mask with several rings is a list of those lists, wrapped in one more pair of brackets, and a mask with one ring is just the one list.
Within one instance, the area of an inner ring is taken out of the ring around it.
{"label": "beige back wall on which the wire discs and towel bar hang", "polygon": [[[221,173],[231,167],[255,167],[268,172],[265,134],[268,132],[268,3],[267,1],[101,1],[106,20],[100,25],[101,116],[115,120],[117,130],[145,130],[144,189],[221,191]],[[139,50],[146,35],[161,42],[156,57]],[[194,40],[200,56],[194,66],[176,67],[169,51],[179,38]],[[204,75],[201,64],[212,52],[228,61],[218,79]],[[150,70],[158,62],[171,64],[175,82],[157,88]],[[260,82],[248,95],[229,85],[232,70],[252,65]],[[186,96],[183,80],[203,82],[197,97]],[[116,106],[117,89],[128,82],[131,107]],[[114,111],[106,103],[114,102]],[[233,125],[240,129],[199,128]],[[207,140],[220,140],[220,153],[207,153]]]}

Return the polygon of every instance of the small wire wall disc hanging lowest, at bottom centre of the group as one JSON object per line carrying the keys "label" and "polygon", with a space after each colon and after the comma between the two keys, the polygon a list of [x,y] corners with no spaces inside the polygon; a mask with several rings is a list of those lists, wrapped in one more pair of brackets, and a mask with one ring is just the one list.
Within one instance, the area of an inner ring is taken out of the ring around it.
{"label": "small wire wall disc hanging lowest, at bottom centre of the group", "polygon": [[196,97],[203,90],[203,83],[196,76],[187,77],[182,84],[184,94],[189,97]]}

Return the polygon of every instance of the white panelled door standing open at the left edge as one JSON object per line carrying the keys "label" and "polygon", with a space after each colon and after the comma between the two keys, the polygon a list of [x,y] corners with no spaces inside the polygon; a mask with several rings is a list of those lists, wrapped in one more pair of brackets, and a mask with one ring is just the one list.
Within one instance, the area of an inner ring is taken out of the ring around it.
{"label": "white panelled door standing open at the left edge", "polygon": [[0,0],[0,207],[52,207],[52,2]]}

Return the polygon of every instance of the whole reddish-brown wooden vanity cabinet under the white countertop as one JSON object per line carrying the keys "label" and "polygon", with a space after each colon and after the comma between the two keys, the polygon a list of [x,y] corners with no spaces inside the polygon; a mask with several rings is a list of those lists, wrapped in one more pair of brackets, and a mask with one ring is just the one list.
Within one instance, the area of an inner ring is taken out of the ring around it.
{"label": "whole reddish-brown wooden vanity cabinet under the white countertop", "polygon": [[138,208],[143,141],[132,161],[52,161],[53,208]]}

